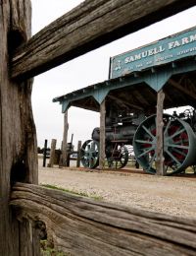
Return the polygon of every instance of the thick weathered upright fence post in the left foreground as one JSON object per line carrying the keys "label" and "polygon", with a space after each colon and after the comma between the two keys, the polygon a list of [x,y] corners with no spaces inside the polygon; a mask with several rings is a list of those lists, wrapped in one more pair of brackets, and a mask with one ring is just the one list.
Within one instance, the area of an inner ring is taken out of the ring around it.
{"label": "thick weathered upright fence post in the left foreground", "polygon": [[13,184],[38,183],[36,132],[31,109],[32,81],[10,79],[10,60],[30,37],[29,0],[0,2],[0,255],[39,255],[28,221],[20,223],[9,206]]}

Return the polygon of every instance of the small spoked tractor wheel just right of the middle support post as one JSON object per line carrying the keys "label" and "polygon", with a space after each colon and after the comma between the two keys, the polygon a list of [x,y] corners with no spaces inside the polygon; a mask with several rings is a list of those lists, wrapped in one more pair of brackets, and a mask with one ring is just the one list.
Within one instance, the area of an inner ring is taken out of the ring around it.
{"label": "small spoked tractor wheel just right of the middle support post", "polygon": [[106,147],[106,158],[109,168],[123,168],[128,161],[128,150],[122,145]]}

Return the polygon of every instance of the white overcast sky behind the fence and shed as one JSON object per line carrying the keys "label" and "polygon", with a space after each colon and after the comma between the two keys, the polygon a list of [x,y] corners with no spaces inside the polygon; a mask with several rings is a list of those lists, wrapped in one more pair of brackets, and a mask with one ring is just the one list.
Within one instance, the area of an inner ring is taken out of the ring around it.
{"label": "white overcast sky behind the fence and shed", "polygon": [[[31,0],[32,34],[64,15],[81,0]],[[37,143],[43,147],[47,139],[57,139],[58,147],[63,137],[63,114],[61,105],[53,103],[56,96],[66,95],[74,90],[108,79],[111,56],[134,49],[175,32],[196,26],[196,7],[172,16],[144,30],[131,33],[115,42],[93,50],[81,57],[45,72],[34,79],[32,107],[37,130]],[[84,109],[69,109],[69,136],[73,134],[73,144],[78,140],[90,139],[94,127],[99,126],[99,114]]]}

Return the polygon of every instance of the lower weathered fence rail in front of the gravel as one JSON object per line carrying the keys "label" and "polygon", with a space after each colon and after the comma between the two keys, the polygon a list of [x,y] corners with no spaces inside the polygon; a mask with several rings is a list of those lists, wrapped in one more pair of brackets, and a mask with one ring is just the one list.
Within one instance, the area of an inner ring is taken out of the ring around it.
{"label": "lower weathered fence rail in front of the gravel", "polygon": [[195,255],[196,219],[126,208],[22,183],[15,185],[11,198],[19,220],[45,223],[55,248],[72,255]]}

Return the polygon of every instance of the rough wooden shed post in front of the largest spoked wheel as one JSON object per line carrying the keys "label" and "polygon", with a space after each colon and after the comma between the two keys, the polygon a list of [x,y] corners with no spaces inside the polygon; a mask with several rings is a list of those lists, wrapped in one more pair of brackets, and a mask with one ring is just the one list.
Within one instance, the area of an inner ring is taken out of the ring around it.
{"label": "rough wooden shed post in front of the largest spoked wheel", "polygon": [[156,120],[156,130],[157,130],[157,148],[156,148],[156,170],[157,175],[166,175],[164,167],[164,134],[163,134],[163,108],[164,108],[164,98],[165,94],[163,90],[160,90],[157,94],[157,120]]}

